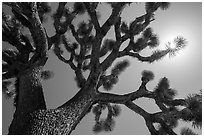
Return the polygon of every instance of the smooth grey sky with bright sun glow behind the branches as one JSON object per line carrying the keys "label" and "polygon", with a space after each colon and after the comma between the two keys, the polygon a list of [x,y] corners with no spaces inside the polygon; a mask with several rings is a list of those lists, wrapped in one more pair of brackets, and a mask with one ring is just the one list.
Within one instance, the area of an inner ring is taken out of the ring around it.
{"label": "smooth grey sky with bright sun glow behind the branches", "polygon": [[[52,3],[53,11],[56,4]],[[100,24],[111,13],[110,8],[102,3],[98,10],[101,12]],[[134,3],[127,6],[122,13],[122,20],[130,22],[135,17],[144,14],[144,4]],[[80,16],[76,23],[85,17]],[[52,21],[48,20],[45,28],[49,36],[54,35]],[[188,41],[188,46],[180,51],[175,57],[164,57],[162,60],[149,63],[138,62],[137,59],[126,57],[116,60],[128,59],[130,66],[119,76],[119,82],[109,91],[111,93],[125,94],[137,90],[140,86],[141,72],[151,70],[155,78],[148,83],[147,88],[153,90],[159,80],[167,77],[171,88],[178,91],[176,98],[185,98],[189,93],[198,93],[202,88],[202,3],[171,3],[168,10],[158,10],[155,14],[155,21],[150,25],[159,36],[160,45],[158,49],[165,48],[168,41],[172,41],[176,36],[183,36]],[[107,38],[113,38],[113,31],[107,34]],[[146,49],[142,54],[147,55],[151,49]],[[43,82],[44,95],[47,108],[56,108],[73,97],[79,90],[74,81],[74,73],[71,68],[59,61],[53,52],[49,52],[49,59],[45,69],[54,72],[54,77]],[[102,90],[102,89],[101,89]],[[103,90],[102,90],[103,91]],[[105,92],[105,91],[104,91]],[[12,99],[8,100],[2,96],[2,134],[8,133],[8,127],[12,120],[14,107]],[[159,109],[154,101],[150,99],[138,99],[134,101],[149,113],[158,112]],[[100,134],[110,135],[148,135],[149,131],[144,120],[138,114],[121,105],[121,115],[117,117],[115,128],[112,132],[101,132]],[[72,132],[75,135],[93,134],[94,115],[87,114]],[[189,126],[189,123],[180,121],[179,127],[175,129],[179,133],[179,128]],[[201,133],[200,130],[195,130]]]}

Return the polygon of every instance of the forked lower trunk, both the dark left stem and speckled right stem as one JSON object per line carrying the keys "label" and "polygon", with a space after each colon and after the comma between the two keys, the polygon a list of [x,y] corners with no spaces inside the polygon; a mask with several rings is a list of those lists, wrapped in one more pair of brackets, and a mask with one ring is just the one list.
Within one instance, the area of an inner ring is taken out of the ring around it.
{"label": "forked lower trunk, both the dark left stem and speckled right stem", "polygon": [[9,134],[70,134],[94,103],[94,88],[82,88],[56,109],[46,110],[40,81],[42,67],[24,72],[19,78],[19,95]]}

